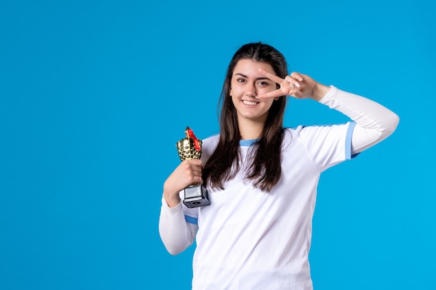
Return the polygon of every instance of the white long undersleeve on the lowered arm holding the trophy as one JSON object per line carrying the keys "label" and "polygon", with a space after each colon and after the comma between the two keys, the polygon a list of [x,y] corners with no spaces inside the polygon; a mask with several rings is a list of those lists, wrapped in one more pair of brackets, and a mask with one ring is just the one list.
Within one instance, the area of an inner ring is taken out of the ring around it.
{"label": "white long undersleeve on the lowered arm holding the trophy", "polygon": [[176,207],[169,207],[162,198],[159,216],[159,234],[166,250],[171,255],[177,255],[192,245],[196,234],[196,225],[187,223],[179,202]]}

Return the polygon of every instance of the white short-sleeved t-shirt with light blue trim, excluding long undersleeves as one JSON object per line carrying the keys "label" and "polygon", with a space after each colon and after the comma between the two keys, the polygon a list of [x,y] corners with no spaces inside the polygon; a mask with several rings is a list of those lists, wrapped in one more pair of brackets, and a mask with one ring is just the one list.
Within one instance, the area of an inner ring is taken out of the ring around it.
{"label": "white short-sleeved t-shirt with light blue trim, excluding long undersleeves", "polygon": [[[309,248],[320,173],[350,159],[355,122],[286,129],[281,179],[270,193],[244,180],[246,171],[208,188],[210,206],[183,212],[197,223],[192,289],[312,289]],[[203,140],[203,163],[219,136]],[[242,162],[255,140],[241,140]],[[242,166],[244,168],[244,166]]]}

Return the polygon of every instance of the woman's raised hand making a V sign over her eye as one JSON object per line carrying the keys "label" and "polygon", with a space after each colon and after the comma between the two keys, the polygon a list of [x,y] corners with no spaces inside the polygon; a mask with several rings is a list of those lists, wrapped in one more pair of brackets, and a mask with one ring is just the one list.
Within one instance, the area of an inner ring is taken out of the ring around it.
{"label": "woman's raised hand making a V sign over her eye", "polygon": [[258,71],[268,79],[278,83],[280,86],[277,90],[256,96],[258,99],[291,96],[297,99],[314,99],[319,101],[329,91],[329,87],[322,85],[310,76],[299,72],[293,72],[282,79],[281,77],[271,74],[261,68],[258,68]]}

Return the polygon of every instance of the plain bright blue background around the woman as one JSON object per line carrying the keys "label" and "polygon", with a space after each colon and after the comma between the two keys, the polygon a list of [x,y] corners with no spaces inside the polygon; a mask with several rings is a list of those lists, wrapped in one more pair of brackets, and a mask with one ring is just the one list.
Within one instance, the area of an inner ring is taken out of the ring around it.
{"label": "plain bright blue background around the woman", "polygon": [[[186,126],[218,131],[246,42],[369,97],[394,134],[320,179],[316,290],[436,289],[433,1],[1,1],[0,289],[189,289],[162,185]],[[345,122],[290,99],[286,126]]]}

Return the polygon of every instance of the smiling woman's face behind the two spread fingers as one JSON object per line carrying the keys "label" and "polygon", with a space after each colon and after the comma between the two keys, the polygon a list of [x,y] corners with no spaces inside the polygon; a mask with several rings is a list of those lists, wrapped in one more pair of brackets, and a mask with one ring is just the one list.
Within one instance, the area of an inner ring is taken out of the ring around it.
{"label": "smiling woman's face behind the two spread fingers", "polygon": [[276,90],[274,81],[258,72],[258,67],[274,74],[269,63],[241,59],[236,63],[231,79],[230,95],[238,112],[238,122],[255,121],[265,124],[274,99],[256,99],[256,95]]}

